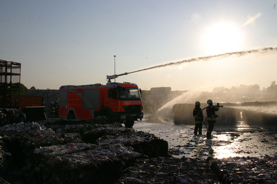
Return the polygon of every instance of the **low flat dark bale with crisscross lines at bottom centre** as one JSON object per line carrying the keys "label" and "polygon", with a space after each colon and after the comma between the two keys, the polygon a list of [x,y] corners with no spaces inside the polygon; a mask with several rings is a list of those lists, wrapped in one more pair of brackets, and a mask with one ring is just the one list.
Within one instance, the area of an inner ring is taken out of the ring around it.
{"label": "low flat dark bale with crisscross lines at bottom centre", "polygon": [[203,160],[183,157],[139,159],[114,184],[217,183],[217,176]]}

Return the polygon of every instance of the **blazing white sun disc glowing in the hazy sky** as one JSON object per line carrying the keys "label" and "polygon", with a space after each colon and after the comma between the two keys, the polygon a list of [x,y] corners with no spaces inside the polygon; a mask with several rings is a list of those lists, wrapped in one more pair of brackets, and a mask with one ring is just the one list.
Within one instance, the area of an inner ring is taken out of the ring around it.
{"label": "blazing white sun disc glowing in the hazy sky", "polygon": [[203,46],[211,54],[222,54],[239,50],[242,43],[239,26],[231,23],[217,23],[204,30]]}

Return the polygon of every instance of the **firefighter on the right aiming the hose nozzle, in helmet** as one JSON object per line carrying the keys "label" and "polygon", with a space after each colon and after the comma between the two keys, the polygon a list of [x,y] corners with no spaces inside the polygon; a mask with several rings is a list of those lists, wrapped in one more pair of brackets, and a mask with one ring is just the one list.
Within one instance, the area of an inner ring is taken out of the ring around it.
{"label": "firefighter on the right aiming the hose nozzle, in helmet", "polygon": [[209,123],[209,127],[208,127],[208,131],[207,131],[207,139],[211,139],[211,132],[214,129],[214,125],[216,122],[216,118],[218,117],[218,115],[215,114],[215,111],[219,110],[219,103],[217,103],[216,105],[213,105],[213,101],[211,99],[207,100],[207,121]]}

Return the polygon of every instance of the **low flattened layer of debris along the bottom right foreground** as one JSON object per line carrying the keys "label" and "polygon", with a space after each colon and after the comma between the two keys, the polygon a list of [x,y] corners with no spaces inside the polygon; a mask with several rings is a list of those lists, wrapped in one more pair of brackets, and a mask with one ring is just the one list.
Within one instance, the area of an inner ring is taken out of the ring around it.
{"label": "low flattened layer of debris along the bottom right foreground", "polygon": [[276,184],[277,157],[139,160],[115,184]]}

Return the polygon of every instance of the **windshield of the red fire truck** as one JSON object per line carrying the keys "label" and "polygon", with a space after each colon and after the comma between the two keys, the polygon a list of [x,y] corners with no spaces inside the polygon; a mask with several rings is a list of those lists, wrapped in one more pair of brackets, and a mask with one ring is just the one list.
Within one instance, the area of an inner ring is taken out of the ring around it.
{"label": "windshield of the red fire truck", "polygon": [[119,100],[141,100],[138,88],[118,87]]}

